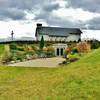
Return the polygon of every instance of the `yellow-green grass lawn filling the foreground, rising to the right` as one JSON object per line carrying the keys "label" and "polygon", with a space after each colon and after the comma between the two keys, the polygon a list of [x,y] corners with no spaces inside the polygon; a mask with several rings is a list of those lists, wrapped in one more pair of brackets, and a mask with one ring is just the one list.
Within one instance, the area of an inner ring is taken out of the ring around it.
{"label": "yellow-green grass lawn filling the foreground, rising to the right", "polygon": [[0,67],[0,100],[99,100],[100,49],[60,68]]}

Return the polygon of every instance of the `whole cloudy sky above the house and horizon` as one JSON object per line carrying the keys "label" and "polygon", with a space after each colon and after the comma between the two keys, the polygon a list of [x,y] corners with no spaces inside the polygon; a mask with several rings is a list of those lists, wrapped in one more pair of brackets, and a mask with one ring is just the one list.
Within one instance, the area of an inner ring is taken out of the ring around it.
{"label": "whole cloudy sky above the house and horizon", "polygon": [[36,23],[81,28],[82,38],[100,40],[100,0],[0,0],[0,38],[12,30],[34,37]]}

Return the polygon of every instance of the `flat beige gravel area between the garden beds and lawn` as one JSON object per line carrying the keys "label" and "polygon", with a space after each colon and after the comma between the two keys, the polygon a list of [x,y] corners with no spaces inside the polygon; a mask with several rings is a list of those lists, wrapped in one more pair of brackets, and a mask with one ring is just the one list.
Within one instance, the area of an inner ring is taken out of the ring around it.
{"label": "flat beige gravel area between the garden beds and lawn", "polygon": [[57,67],[59,63],[64,61],[64,58],[41,58],[36,60],[30,60],[25,62],[19,62],[15,64],[9,64],[8,66],[24,66],[24,67]]}

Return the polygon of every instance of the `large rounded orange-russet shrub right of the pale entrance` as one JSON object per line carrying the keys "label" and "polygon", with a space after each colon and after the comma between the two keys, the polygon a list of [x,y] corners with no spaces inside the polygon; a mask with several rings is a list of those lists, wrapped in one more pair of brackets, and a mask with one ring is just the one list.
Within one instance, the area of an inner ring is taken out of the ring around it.
{"label": "large rounded orange-russet shrub right of the pale entrance", "polygon": [[80,53],[87,53],[91,50],[91,47],[87,42],[80,42],[77,44],[77,49]]}

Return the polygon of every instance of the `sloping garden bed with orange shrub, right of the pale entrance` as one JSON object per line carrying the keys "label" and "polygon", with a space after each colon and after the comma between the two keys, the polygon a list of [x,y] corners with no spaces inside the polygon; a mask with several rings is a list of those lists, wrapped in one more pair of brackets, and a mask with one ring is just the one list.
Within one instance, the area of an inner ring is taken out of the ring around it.
{"label": "sloping garden bed with orange shrub, right of the pale entrance", "polygon": [[91,51],[91,46],[86,42],[80,42],[74,46],[71,45],[65,50],[64,54],[65,60],[62,63],[59,63],[59,65],[65,65],[76,62],[90,51]]}

